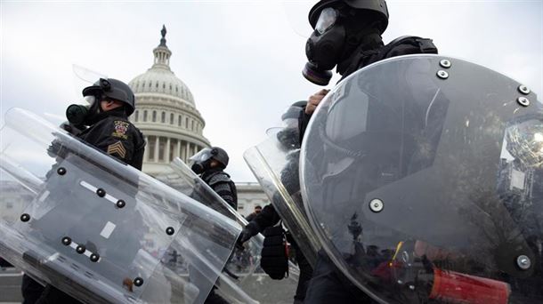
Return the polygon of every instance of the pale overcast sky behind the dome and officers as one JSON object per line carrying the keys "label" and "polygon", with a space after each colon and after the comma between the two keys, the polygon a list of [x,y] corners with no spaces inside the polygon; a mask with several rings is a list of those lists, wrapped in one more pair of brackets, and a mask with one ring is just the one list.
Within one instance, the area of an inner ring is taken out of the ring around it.
{"label": "pale overcast sky behind the dome and officers", "polygon": [[[20,107],[63,116],[80,100],[73,64],[129,82],[152,65],[166,24],[170,66],[194,95],[207,123],[204,135],[231,155],[233,180],[255,181],[243,152],[280,124],[289,104],[320,89],[301,75],[304,36],[311,35],[307,12],[315,2],[2,0],[0,115]],[[542,1],[387,4],[385,43],[430,37],[442,54],[542,92]]]}

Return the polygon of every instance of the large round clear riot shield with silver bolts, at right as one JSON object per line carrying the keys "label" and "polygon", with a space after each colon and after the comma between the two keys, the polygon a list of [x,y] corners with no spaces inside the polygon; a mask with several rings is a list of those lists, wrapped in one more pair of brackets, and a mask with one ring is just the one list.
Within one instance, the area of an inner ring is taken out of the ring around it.
{"label": "large round clear riot shield with silver bolts, at right", "polygon": [[336,267],[382,303],[542,302],[542,108],[507,76],[436,55],[345,78],[301,152]]}

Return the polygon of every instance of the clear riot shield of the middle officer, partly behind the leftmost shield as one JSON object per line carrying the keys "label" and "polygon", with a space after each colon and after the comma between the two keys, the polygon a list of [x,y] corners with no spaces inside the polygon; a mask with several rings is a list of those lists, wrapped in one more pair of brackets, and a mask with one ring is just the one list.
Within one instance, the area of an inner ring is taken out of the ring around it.
{"label": "clear riot shield of the middle officer, partly behind the leftmost shield", "polygon": [[[247,220],[215,193],[204,180],[190,170],[180,158],[175,158],[170,169],[157,176],[157,179],[190,196],[201,204],[236,220],[245,227]],[[296,289],[299,270],[292,262],[289,264],[290,276],[281,281],[271,280],[262,270],[260,254],[263,248],[263,236],[252,237],[243,248],[236,247],[226,263],[223,274],[216,285],[216,292],[223,298],[236,303],[288,303]],[[281,294],[273,294],[278,290]]]}

